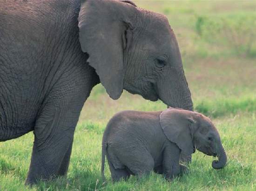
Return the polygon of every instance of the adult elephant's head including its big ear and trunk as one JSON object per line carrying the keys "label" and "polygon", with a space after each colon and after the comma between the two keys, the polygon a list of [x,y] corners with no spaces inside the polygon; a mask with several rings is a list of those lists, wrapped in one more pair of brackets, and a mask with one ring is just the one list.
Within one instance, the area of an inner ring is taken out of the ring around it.
{"label": "adult elephant's head including its big ear and trunk", "polygon": [[192,110],[175,34],[165,16],[128,0],[82,0],[81,49],[113,99],[126,89]]}

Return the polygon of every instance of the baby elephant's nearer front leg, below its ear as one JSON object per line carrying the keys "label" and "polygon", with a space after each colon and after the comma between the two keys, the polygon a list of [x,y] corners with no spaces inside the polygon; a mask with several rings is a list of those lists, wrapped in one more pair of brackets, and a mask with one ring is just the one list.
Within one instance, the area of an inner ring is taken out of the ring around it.
{"label": "baby elephant's nearer front leg, below its ear", "polygon": [[171,180],[180,174],[180,153],[181,150],[174,143],[169,142],[163,153],[163,175],[166,179]]}

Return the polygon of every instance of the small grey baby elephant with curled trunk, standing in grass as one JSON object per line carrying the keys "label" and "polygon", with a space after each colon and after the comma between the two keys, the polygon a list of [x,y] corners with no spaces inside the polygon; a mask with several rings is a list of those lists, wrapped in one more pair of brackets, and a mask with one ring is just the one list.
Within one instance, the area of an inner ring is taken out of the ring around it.
{"label": "small grey baby elephant with curled trunk, standing in grass", "polygon": [[172,179],[180,174],[180,153],[195,149],[217,156],[212,167],[227,162],[220,135],[206,116],[197,112],[169,108],[159,112],[123,111],[109,122],[102,140],[101,176],[107,155],[113,181],[151,171]]}

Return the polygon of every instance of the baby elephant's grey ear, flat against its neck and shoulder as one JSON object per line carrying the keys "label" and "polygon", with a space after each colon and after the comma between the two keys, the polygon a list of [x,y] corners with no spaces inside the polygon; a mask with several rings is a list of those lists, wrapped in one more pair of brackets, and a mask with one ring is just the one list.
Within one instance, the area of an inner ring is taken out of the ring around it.
{"label": "baby elephant's grey ear, flat against its neck and shoulder", "polygon": [[160,125],[167,139],[175,143],[184,154],[194,153],[193,112],[181,109],[166,109],[160,115]]}

